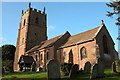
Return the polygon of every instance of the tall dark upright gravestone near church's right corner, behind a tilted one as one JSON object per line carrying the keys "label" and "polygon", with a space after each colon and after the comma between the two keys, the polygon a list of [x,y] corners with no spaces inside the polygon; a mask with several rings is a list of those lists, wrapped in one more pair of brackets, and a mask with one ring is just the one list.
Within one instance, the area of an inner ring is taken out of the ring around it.
{"label": "tall dark upright gravestone near church's right corner, behind a tilted one", "polygon": [[97,77],[104,77],[104,69],[105,69],[105,62],[104,59],[98,59],[98,76]]}

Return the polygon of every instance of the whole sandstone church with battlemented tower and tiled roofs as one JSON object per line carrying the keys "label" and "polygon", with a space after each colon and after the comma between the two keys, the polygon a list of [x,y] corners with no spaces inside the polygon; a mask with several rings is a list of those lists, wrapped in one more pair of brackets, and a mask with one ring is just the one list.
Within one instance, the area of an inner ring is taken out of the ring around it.
{"label": "whole sandstone church with battlemented tower and tiled roofs", "polygon": [[42,68],[46,70],[49,60],[60,63],[78,64],[84,69],[86,62],[94,65],[102,58],[105,67],[110,67],[118,59],[115,43],[104,21],[94,29],[71,35],[68,31],[52,39],[47,39],[47,14],[44,11],[29,8],[22,11],[18,29],[14,71]]}

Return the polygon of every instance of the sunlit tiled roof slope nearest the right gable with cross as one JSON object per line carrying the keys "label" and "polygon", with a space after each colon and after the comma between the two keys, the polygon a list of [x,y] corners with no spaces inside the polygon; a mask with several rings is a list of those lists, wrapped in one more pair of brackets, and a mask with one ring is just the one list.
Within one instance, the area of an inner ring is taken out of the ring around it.
{"label": "sunlit tiled roof slope nearest the right gable with cross", "polygon": [[93,39],[96,36],[95,34],[99,30],[99,28],[100,28],[100,26],[96,27],[94,29],[91,29],[91,30],[88,30],[88,31],[71,36],[62,47],[70,46],[70,45],[73,45],[75,43],[80,43],[80,42],[84,42],[84,41],[88,41],[88,40]]}

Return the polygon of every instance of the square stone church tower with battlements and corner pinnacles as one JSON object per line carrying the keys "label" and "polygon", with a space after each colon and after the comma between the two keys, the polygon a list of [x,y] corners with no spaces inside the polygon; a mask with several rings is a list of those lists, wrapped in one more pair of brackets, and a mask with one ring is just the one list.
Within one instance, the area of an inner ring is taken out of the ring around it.
{"label": "square stone church tower with battlements and corner pinnacles", "polygon": [[40,44],[40,42],[47,40],[46,21],[45,8],[41,12],[32,9],[31,3],[29,3],[29,8],[25,12],[22,11],[16,44],[14,71],[19,69],[18,61],[21,55],[24,55],[26,51]]}

